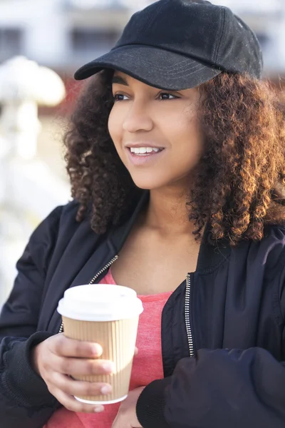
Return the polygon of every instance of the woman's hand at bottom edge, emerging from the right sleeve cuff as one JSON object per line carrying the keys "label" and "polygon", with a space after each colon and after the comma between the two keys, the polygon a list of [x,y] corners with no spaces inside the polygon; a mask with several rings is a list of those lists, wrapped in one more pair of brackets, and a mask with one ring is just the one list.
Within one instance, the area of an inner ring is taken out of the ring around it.
{"label": "woman's hand at bottom edge, emerging from the right sleeve cuff", "polygon": [[138,397],[145,387],[133,389],[128,394],[128,397],[124,399],[120,405],[119,412],[115,418],[112,428],[142,428],[140,422],[138,422],[137,413],[135,407],[138,402]]}

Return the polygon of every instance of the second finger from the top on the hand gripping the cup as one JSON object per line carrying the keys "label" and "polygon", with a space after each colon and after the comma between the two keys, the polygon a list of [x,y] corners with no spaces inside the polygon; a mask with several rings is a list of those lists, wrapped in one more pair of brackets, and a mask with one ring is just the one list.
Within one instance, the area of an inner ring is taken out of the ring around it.
{"label": "second finger from the top on the hand gripping the cup", "polygon": [[53,370],[76,377],[88,376],[90,374],[111,374],[115,372],[115,365],[109,360],[58,357]]}

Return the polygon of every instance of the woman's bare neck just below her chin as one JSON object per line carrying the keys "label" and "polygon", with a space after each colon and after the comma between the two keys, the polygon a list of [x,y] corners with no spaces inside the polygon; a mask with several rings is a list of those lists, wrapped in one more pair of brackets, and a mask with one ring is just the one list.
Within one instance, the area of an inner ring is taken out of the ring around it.
{"label": "woman's bare neck just below her chin", "polygon": [[186,207],[188,194],[189,185],[150,190],[145,225],[162,233],[192,233],[194,225]]}

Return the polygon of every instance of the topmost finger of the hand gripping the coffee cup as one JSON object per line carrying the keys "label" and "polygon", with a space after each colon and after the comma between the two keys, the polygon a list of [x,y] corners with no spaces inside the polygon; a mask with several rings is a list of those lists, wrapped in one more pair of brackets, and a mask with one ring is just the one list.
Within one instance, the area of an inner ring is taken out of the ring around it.
{"label": "topmost finger of the hand gripping the coffee cup", "polygon": [[98,343],[70,339],[61,333],[53,338],[51,352],[62,357],[98,358],[103,349]]}

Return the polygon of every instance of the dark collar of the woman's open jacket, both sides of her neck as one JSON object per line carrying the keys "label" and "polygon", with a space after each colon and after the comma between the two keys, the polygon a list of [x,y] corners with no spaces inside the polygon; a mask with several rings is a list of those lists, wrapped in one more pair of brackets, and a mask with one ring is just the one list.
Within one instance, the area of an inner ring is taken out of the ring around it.
{"label": "dark collar of the woman's open jacket, both sides of her neck", "polygon": [[[149,191],[145,190],[142,197],[138,201],[135,210],[130,218],[119,227],[114,227],[110,230],[108,235],[108,245],[114,254],[118,254],[123,247],[125,240],[128,238],[130,230],[133,228],[135,221],[140,215],[142,208],[149,200]],[[215,245],[209,244],[209,224],[206,225],[202,236],[201,245],[199,248],[199,255],[197,260],[197,271],[210,272],[224,263],[229,258],[231,248],[228,240],[221,240]]]}

